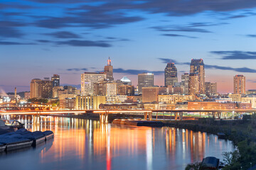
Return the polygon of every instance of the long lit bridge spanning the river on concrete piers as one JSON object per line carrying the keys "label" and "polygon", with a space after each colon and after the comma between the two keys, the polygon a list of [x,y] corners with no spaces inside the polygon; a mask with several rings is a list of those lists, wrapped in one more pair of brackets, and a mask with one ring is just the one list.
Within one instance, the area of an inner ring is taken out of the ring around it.
{"label": "long lit bridge spanning the river on concrete piers", "polygon": [[133,109],[133,110],[68,110],[68,111],[2,111],[0,115],[36,115],[39,118],[40,115],[53,115],[53,114],[70,114],[70,113],[94,113],[100,116],[101,123],[107,123],[108,115],[110,114],[127,114],[127,115],[144,115],[144,120],[152,120],[152,114],[156,115],[156,120],[159,113],[170,113],[174,114],[174,120],[182,120],[183,113],[209,113],[213,118],[221,118],[223,113],[256,113],[256,109],[174,109],[174,110],[143,110],[143,109]]}

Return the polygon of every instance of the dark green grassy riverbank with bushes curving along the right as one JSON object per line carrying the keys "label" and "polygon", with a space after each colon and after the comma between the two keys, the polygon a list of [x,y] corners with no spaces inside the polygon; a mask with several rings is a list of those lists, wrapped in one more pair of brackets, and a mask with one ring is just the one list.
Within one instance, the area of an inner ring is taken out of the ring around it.
{"label": "dark green grassy riverbank with bushes curving along the right", "polygon": [[[224,170],[250,169],[256,164],[256,116],[244,120],[199,120],[163,121],[165,126],[184,128],[193,131],[209,132],[217,135],[223,132],[226,139],[233,141],[238,149],[235,152],[223,153],[226,166]],[[198,169],[190,166],[189,169]]]}

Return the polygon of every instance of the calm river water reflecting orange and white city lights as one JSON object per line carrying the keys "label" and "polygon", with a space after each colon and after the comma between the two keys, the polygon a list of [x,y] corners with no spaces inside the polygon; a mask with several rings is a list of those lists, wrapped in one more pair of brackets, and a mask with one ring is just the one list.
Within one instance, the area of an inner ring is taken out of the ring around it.
{"label": "calm river water reflecting orange and white city lights", "polygon": [[185,169],[203,157],[234,149],[216,135],[176,128],[101,125],[96,120],[17,118],[31,131],[52,130],[53,140],[28,149],[0,154],[0,169]]}

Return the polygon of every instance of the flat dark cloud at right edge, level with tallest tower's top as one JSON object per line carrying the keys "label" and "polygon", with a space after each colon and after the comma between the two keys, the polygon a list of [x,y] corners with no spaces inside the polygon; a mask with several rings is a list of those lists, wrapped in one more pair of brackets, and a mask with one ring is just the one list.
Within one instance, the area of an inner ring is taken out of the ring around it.
{"label": "flat dark cloud at right edge, level with tallest tower's top", "polygon": [[214,55],[220,55],[222,60],[255,60],[256,52],[246,51],[212,51]]}

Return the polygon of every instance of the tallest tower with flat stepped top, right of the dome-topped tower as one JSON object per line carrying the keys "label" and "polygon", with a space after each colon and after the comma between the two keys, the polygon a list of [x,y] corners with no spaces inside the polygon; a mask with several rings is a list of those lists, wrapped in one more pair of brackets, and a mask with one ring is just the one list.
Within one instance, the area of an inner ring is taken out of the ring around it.
{"label": "tallest tower with flat stepped top, right of the dome-topped tower", "polygon": [[190,73],[198,74],[198,94],[205,94],[205,69],[203,59],[191,60]]}

